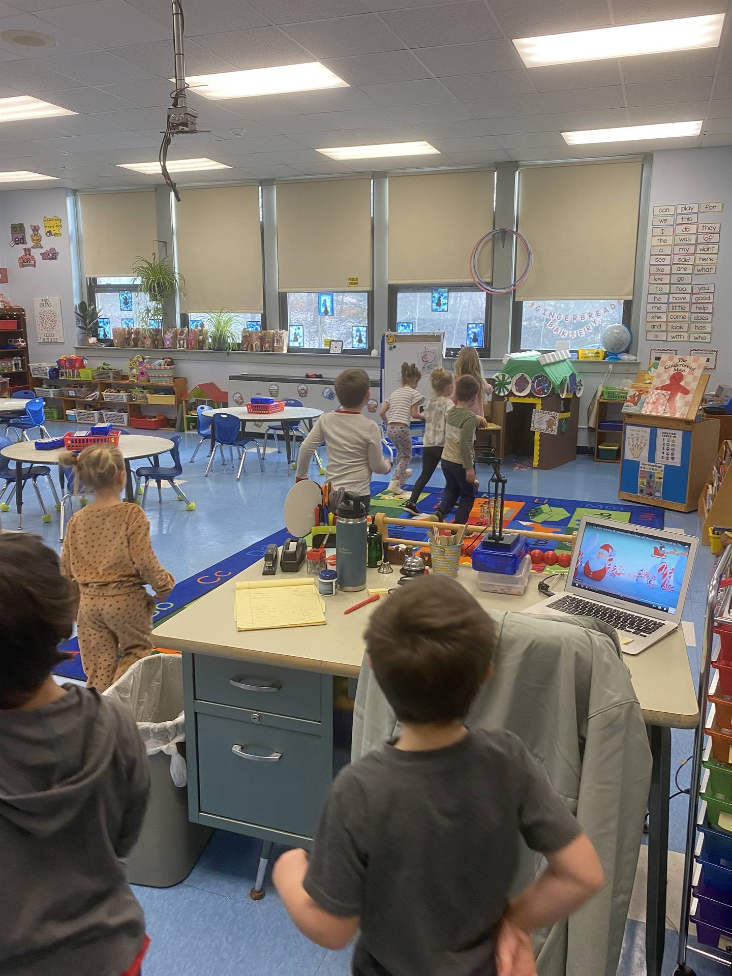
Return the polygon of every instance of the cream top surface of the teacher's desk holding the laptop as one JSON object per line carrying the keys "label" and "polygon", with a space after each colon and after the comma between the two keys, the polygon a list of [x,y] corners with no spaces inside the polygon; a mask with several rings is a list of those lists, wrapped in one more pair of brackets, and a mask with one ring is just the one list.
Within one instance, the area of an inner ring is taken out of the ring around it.
{"label": "cream top surface of the teacher's desk holding the laptop", "polygon": [[[236,630],[234,583],[262,578],[263,561],[255,563],[216,590],[195,600],[175,617],[155,628],[155,636],[166,647],[196,654],[259,661],[305,671],[324,671],[357,677],[364,654],[363,632],[377,603],[344,616],[344,610],[368,596],[368,590],[325,597],[325,628],[301,627],[281,630]],[[389,576],[367,571],[368,587],[395,587],[398,568]],[[279,574],[284,579],[286,574]],[[305,569],[293,577],[305,575]],[[521,610],[541,599],[540,574],[529,574],[522,596],[487,593],[477,589],[477,574],[461,566],[460,582],[488,610]],[[382,599],[388,598],[382,596]],[[633,688],[645,720],[671,728],[694,728],[697,724],[696,688],[681,629],[636,655],[624,655]]]}

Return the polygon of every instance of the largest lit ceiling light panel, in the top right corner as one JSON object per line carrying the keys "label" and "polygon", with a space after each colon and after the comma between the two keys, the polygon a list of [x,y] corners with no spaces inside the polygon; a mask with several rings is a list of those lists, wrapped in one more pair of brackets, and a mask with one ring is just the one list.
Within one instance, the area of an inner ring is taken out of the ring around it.
{"label": "largest lit ceiling light panel, in the top right corner", "polygon": [[632,58],[662,51],[715,48],[719,45],[723,23],[724,14],[711,14],[576,30],[545,37],[521,37],[513,43],[527,67],[538,67],[540,64],[569,64],[604,58]]}

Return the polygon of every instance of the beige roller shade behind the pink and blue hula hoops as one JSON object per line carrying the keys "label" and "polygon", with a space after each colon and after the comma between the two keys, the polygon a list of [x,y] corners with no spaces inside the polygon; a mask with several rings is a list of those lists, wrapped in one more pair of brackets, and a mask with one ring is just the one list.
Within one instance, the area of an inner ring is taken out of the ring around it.
{"label": "beige roller shade behind the pink and blue hula hoops", "polygon": [[518,229],[534,266],[518,299],[632,298],[640,174],[634,160],[519,171]]}

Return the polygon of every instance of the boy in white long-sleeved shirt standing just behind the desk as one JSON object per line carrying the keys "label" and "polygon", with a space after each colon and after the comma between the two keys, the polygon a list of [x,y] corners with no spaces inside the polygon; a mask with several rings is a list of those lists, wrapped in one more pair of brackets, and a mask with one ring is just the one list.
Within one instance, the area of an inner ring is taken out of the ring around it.
{"label": "boy in white long-sleeved shirt standing just behind the desk", "polygon": [[328,451],[326,478],[334,488],[358,495],[368,512],[371,504],[371,475],[388,474],[391,465],[382,450],[382,431],[361,413],[371,384],[362,369],[346,369],[336,379],[340,407],[315,421],[298,455],[297,481],[305,481],[307,468],[325,441]]}

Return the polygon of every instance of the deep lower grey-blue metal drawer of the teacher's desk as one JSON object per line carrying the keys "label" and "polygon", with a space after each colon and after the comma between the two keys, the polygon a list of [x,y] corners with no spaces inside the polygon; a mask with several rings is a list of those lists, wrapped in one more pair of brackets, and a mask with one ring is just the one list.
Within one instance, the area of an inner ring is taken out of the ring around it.
{"label": "deep lower grey-blue metal drawer of the teacher's desk", "polygon": [[314,836],[329,785],[318,726],[294,731],[245,714],[197,713],[201,813]]}

